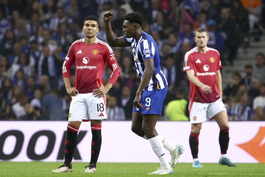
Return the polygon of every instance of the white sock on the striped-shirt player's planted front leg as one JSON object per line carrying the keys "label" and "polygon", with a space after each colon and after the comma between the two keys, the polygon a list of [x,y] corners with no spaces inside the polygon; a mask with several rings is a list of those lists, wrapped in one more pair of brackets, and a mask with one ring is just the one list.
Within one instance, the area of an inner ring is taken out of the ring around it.
{"label": "white sock on the striped-shirt player's planted front leg", "polygon": [[170,169],[170,165],[167,161],[167,157],[166,157],[165,150],[163,147],[163,143],[160,139],[160,136],[157,135],[153,138],[148,139],[148,141],[150,145],[152,146],[154,153],[157,155],[161,167],[167,167]]}

